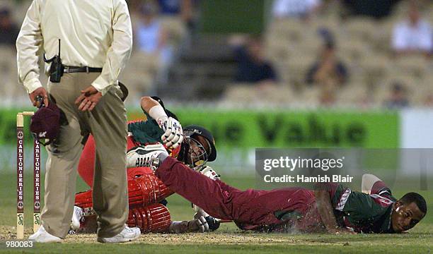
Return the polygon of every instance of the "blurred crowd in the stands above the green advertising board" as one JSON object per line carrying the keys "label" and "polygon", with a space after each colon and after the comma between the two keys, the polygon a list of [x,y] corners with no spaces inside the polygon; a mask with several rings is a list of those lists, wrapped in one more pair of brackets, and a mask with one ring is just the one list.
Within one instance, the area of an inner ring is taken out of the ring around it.
{"label": "blurred crowd in the stands above the green advertising board", "polygon": [[[160,93],[160,87],[179,91],[171,87],[179,85],[172,83],[171,72],[182,68],[181,56],[194,52],[195,42],[205,36],[200,33],[201,1],[127,2],[134,52],[120,79],[131,90],[129,101]],[[1,103],[14,106],[27,103],[11,59],[30,1],[4,3],[0,4]],[[264,4],[269,8],[265,8],[267,25],[261,34],[224,35],[224,50],[234,64],[227,65],[231,80],[224,90],[206,96],[212,102],[433,107],[432,1],[273,0]],[[208,85],[206,79],[201,82]],[[182,101],[181,94],[175,98]]]}

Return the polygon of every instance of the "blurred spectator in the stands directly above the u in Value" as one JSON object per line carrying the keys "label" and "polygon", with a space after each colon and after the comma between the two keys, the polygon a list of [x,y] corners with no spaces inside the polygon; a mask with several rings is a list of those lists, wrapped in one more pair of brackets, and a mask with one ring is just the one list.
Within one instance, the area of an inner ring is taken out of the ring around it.
{"label": "blurred spectator in the stands directly above the u in Value", "polygon": [[347,81],[347,68],[335,56],[335,44],[325,42],[318,61],[311,66],[306,75],[306,83],[341,86]]}

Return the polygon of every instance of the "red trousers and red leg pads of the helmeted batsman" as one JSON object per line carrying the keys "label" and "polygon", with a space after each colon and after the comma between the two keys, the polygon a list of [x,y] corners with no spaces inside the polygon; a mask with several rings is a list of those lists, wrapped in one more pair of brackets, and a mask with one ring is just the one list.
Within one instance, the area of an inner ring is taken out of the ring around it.
{"label": "red trousers and red leg pads of the helmeted batsman", "polygon": [[[139,145],[132,136],[127,138],[127,149]],[[93,171],[95,164],[95,141],[89,136],[84,146],[79,162],[79,174],[88,186],[93,186]],[[136,178],[136,176],[147,176]],[[148,167],[127,168],[129,215],[127,224],[139,226],[142,233],[167,231],[171,224],[171,216],[167,207],[163,205],[163,198],[171,195],[161,181],[156,181],[154,172]],[[144,180],[146,179],[146,180]],[[144,183],[144,181],[146,181]],[[161,202],[161,203],[158,203]],[[75,205],[84,209],[86,217],[93,217],[91,191],[76,194]],[[86,231],[94,227],[93,219],[81,222],[81,230]]]}

